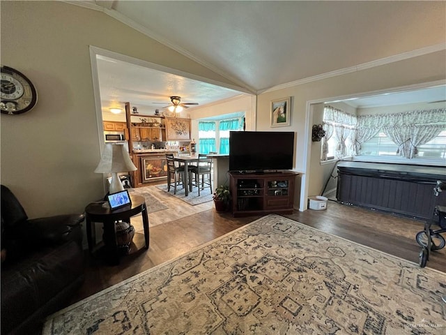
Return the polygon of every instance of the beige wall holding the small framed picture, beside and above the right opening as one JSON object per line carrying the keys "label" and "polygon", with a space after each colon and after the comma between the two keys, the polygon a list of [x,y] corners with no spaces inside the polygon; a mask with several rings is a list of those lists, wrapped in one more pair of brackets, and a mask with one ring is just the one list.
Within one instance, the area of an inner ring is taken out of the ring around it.
{"label": "beige wall holding the small framed picture, beside and above the right opening", "polygon": [[[375,68],[357,70],[346,75],[268,91],[257,97],[257,130],[259,131],[277,131],[278,129],[270,128],[270,101],[286,96],[293,97],[291,126],[282,127],[280,130],[295,131],[298,136],[295,170],[303,172],[300,209],[306,202],[307,196],[320,192],[321,186],[324,184],[324,181],[321,181],[324,168],[316,159],[320,154],[320,144],[312,144],[311,131],[309,131],[314,117],[310,112],[312,110],[309,107],[311,103],[331,101],[341,96],[361,95],[383,89],[445,80],[445,59],[446,52],[443,50]],[[298,201],[296,199],[296,207],[299,206]]]}

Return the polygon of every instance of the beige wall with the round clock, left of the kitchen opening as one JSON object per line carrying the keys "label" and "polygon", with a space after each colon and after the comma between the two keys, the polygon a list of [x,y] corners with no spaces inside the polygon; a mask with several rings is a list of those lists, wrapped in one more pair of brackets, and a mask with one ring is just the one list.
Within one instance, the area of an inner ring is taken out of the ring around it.
{"label": "beige wall with the round clock, left of the kitchen opening", "polygon": [[1,114],[1,184],[30,217],[82,212],[103,196],[89,46],[233,84],[95,10],[1,1],[1,64],[36,85],[26,114]]}

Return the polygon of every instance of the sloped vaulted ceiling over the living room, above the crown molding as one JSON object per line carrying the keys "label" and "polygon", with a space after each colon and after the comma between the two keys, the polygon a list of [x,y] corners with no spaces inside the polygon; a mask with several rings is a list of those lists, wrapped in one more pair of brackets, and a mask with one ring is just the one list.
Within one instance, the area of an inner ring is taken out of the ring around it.
{"label": "sloped vaulted ceiling over the living room, above the crown molding", "polygon": [[148,34],[261,91],[445,43],[445,1],[113,1]]}

